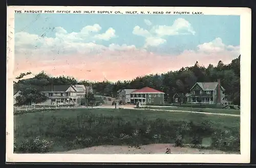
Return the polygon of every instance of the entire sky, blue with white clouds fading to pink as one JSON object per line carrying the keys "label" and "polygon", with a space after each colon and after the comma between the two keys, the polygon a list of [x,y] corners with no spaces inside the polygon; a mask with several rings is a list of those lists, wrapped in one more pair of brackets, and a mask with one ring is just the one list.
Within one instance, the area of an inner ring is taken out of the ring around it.
{"label": "entire sky, blue with white clouds fading to pink", "polygon": [[240,16],[15,14],[14,75],[131,80],[240,54]]}

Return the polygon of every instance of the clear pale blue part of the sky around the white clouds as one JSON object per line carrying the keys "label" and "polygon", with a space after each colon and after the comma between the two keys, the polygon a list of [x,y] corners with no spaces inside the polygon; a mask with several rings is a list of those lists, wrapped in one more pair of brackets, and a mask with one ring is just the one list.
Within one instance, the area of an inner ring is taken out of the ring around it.
{"label": "clear pale blue part of the sky around the white clouds", "polygon": [[[144,23],[144,19],[150,20],[152,25],[172,25],[178,18],[184,18],[193,26],[195,35],[169,36],[166,43],[157,49],[163,52],[169,50],[183,51],[184,49],[195,49],[199,44],[206,43],[220,37],[226,45],[240,45],[240,16],[221,15],[101,15],[101,14],[16,14],[15,33],[25,31],[29,34],[54,37],[53,27],[63,27],[68,33],[80,32],[86,25],[99,24],[102,31],[113,27],[117,38],[102,41],[100,44],[109,45],[127,44],[141,47],[144,38],[133,35],[134,26],[143,29],[151,29]],[[162,49],[161,49],[162,48]]]}

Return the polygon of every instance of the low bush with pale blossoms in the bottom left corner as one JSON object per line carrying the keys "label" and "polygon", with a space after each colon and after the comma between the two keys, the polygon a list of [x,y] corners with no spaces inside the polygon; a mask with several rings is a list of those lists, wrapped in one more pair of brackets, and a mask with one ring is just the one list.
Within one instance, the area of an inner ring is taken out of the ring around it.
{"label": "low bush with pale blossoms in the bottom left corner", "polygon": [[45,153],[49,152],[52,145],[53,142],[48,142],[46,139],[36,137],[34,139],[26,139],[20,142],[20,144],[16,144],[16,141],[14,141],[14,150],[23,153]]}

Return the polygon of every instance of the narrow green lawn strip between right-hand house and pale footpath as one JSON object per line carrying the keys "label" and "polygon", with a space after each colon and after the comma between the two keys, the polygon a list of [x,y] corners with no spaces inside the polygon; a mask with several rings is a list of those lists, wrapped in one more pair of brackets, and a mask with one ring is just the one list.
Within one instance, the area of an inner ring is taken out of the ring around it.
{"label": "narrow green lawn strip between right-hand house and pale footpath", "polygon": [[233,114],[240,115],[240,109],[219,109],[219,108],[191,108],[191,107],[154,107],[154,106],[146,106],[145,108],[150,109],[162,109],[162,110],[184,110],[184,111],[199,111],[205,113],[223,113],[223,114]]}

